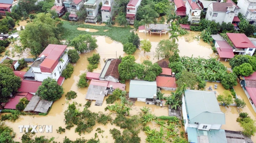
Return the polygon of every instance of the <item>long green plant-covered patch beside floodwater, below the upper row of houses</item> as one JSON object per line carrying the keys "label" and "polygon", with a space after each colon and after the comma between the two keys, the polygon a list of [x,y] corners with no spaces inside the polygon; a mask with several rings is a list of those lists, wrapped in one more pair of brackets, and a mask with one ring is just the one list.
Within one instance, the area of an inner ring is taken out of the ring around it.
{"label": "long green plant-covered patch beside floodwater, below the upper row of houses", "polygon": [[[77,30],[78,27],[96,29],[99,31],[97,32],[81,31],[81,30]],[[128,42],[127,35],[130,34],[130,29],[132,29],[132,28],[115,27],[115,26],[108,27],[108,26],[78,24],[78,23],[71,23],[69,21],[63,21],[63,28],[64,30],[61,37],[62,39],[65,39],[65,40],[72,40],[73,38],[77,37],[80,34],[90,34],[90,35],[108,36],[112,40],[121,42],[122,44],[125,44]]]}

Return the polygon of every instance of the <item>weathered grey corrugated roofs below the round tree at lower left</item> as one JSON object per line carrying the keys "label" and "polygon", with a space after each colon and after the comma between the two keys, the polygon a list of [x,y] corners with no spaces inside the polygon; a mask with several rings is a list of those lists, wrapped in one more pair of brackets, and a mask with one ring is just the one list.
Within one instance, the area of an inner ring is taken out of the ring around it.
{"label": "weathered grey corrugated roofs below the round tree at lower left", "polygon": [[52,104],[53,101],[43,100],[39,96],[34,95],[23,111],[47,113]]}

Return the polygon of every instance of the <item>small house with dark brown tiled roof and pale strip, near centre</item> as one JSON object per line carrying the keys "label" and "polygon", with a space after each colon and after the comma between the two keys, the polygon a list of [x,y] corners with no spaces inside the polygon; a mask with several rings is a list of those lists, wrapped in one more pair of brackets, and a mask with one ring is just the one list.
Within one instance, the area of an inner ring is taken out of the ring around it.
{"label": "small house with dark brown tiled roof and pale strip, near centre", "polygon": [[108,59],[101,71],[100,80],[119,82],[118,65],[121,63],[119,59]]}

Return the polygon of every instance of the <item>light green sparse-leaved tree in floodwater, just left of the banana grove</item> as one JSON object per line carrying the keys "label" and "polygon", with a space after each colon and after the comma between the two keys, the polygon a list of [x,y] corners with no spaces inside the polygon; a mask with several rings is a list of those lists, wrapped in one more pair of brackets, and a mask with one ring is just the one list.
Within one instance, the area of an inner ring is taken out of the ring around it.
{"label": "light green sparse-leaved tree in floodwater, just left of the banana grove", "polygon": [[157,47],[155,49],[156,56],[162,57],[162,58],[169,58],[172,56],[175,52],[179,52],[178,49],[178,43],[171,42],[169,39],[160,40],[160,42],[157,44]]}

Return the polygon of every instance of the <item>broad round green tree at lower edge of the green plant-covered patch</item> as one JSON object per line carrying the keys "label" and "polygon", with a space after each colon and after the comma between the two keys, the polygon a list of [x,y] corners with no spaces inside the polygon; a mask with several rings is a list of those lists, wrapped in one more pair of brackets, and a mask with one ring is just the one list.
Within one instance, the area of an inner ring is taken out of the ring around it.
{"label": "broad round green tree at lower edge of the green plant-covered patch", "polygon": [[94,50],[98,47],[96,44],[97,39],[90,34],[79,35],[71,41],[71,45],[75,47],[77,51],[87,52]]}

